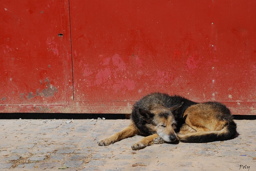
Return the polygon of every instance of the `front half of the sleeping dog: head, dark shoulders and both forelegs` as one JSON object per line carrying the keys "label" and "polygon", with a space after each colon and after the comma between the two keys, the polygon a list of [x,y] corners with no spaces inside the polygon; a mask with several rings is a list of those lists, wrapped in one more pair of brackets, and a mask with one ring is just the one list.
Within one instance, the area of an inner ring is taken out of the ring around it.
{"label": "front half of the sleeping dog: head, dark shoulders and both forelegs", "polygon": [[172,142],[177,138],[178,120],[186,108],[196,104],[180,96],[169,96],[163,93],[149,94],[133,105],[131,125],[116,134],[98,141],[98,145],[110,145],[124,138],[135,135],[146,136],[132,145],[133,150],[139,150],[153,145],[153,140],[161,136],[164,141]]}

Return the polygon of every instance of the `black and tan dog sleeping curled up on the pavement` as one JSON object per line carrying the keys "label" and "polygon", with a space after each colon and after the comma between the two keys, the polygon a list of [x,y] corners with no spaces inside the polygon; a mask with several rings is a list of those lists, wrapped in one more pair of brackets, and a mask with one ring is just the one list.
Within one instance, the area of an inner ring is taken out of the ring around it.
{"label": "black and tan dog sleeping curled up on the pavement", "polygon": [[99,140],[98,145],[110,145],[138,134],[146,137],[133,144],[133,150],[177,140],[188,143],[223,141],[237,135],[236,123],[225,105],[195,103],[162,93],[152,93],[137,101],[131,122],[124,130]]}

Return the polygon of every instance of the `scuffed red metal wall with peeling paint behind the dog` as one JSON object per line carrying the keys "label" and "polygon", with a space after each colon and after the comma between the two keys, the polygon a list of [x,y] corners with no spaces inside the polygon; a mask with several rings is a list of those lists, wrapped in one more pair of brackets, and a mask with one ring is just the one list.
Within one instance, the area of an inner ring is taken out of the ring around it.
{"label": "scuffed red metal wall with peeling paint behind the dog", "polygon": [[0,2],[1,112],[129,113],[159,91],[256,114],[255,1],[68,3]]}

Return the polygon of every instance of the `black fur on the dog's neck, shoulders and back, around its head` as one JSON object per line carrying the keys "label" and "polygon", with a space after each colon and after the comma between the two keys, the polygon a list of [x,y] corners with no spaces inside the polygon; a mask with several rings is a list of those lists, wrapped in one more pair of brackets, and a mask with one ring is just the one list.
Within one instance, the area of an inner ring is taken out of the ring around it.
{"label": "black fur on the dog's neck, shoulders and back, around its head", "polygon": [[142,135],[149,136],[156,132],[151,132],[145,124],[147,123],[139,113],[139,108],[150,111],[150,109],[156,105],[162,105],[166,108],[171,108],[175,105],[183,102],[182,106],[173,111],[175,120],[177,121],[175,132],[179,132],[180,126],[185,123],[183,120],[183,114],[185,110],[194,104],[197,104],[194,101],[188,100],[186,98],[180,97],[178,95],[170,96],[165,93],[151,93],[147,96],[144,96],[142,99],[138,100],[132,108],[131,119],[136,125],[138,130]]}

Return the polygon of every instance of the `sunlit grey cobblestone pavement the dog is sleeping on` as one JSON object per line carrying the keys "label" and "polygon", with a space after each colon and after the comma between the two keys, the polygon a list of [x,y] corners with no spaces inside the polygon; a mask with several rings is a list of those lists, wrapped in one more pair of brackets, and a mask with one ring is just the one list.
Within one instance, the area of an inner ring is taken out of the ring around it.
{"label": "sunlit grey cobblestone pavement the dog is sleeping on", "polygon": [[0,170],[256,170],[255,120],[235,120],[240,135],[232,140],[152,145],[139,151],[131,145],[141,136],[97,144],[130,120],[69,122],[0,120]]}

